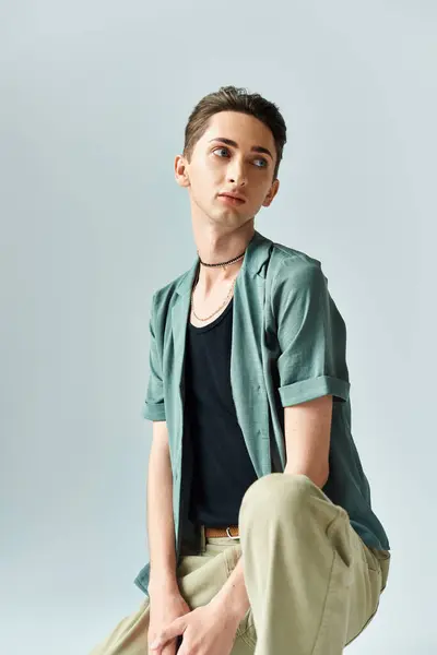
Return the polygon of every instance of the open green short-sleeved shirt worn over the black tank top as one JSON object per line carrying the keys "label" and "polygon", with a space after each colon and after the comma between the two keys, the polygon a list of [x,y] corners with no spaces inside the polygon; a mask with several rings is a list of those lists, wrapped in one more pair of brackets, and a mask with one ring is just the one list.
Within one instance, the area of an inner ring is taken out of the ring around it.
{"label": "open green short-sleeved shirt worn over the black tank top", "polygon": [[[189,271],[153,295],[143,407],[144,418],[167,421],[177,561],[187,479],[182,466],[184,355],[198,266],[197,258]],[[285,468],[283,408],[332,394],[330,473],[323,492],[347,511],[365,544],[389,550],[351,433],[346,329],[320,262],[256,230],[236,278],[233,311],[232,393],[258,477]],[[134,581],[144,593],[149,576],[146,563]]]}

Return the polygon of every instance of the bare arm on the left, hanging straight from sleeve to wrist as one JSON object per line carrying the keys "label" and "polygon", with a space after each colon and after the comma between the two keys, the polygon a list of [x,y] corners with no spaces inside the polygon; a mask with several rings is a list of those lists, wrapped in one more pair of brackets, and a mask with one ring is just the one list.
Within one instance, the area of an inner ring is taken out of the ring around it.
{"label": "bare arm on the left, hanging straight from sleeve to wrist", "polygon": [[177,588],[173,475],[165,421],[153,424],[147,475],[149,590]]}

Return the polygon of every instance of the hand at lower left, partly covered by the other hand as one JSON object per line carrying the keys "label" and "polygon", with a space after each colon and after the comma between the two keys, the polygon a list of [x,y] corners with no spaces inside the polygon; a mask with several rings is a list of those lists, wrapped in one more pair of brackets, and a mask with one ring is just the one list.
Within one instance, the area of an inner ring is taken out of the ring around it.
{"label": "hand at lower left, partly covered by the other hand", "polygon": [[[191,608],[181,596],[179,590],[161,588],[160,592],[151,593],[150,597],[150,623],[147,631],[147,645],[162,634],[163,630],[179,617],[188,615]],[[176,639],[168,641],[162,651],[162,655],[175,655]],[[178,652],[179,654],[179,652]]]}

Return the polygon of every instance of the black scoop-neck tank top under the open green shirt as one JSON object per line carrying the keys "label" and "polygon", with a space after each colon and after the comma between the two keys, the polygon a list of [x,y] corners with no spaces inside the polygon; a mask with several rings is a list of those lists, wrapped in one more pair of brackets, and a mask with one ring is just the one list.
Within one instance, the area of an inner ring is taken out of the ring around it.
{"label": "black scoop-neck tank top under the open green shirt", "polygon": [[185,438],[192,449],[188,516],[206,526],[238,524],[243,496],[257,479],[231,390],[232,299],[208,325],[188,323]]}

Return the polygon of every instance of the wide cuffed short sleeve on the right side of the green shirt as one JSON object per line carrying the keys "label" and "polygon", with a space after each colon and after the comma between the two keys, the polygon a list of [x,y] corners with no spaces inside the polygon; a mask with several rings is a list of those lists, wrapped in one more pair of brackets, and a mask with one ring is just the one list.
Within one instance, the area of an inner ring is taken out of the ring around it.
{"label": "wide cuffed short sleeve on the right side of the green shirt", "polygon": [[334,402],[347,401],[346,329],[320,264],[285,261],[275,283],[282,406],[329,394]]}

